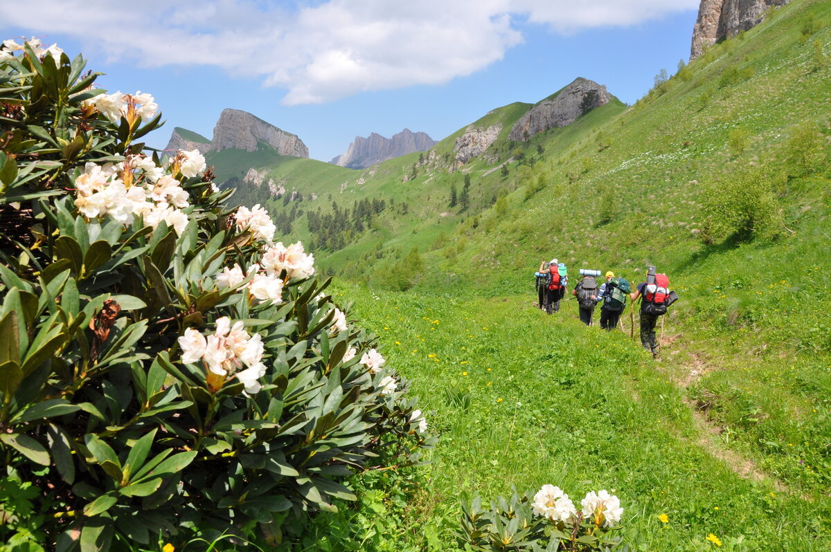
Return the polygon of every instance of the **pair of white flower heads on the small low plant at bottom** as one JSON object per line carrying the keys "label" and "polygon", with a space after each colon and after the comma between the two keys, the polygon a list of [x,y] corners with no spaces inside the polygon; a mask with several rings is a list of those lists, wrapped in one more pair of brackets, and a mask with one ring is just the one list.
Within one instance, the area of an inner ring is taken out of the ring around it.
{"label": "pair of white flower heads on the small low plant at bottom", "polygon": [[[597,527],[617,525],[623,515],[620,500],[606,490],[589,492],[580,504],[583,506],[580,512],[583,518],[592,520]],[[577,519],[577,508],[574,507],[568,495],[557,486],[543,485],[543,488],[534,495],[533,506],[535,515],[541,515],[555,522],[564,523]]]}

